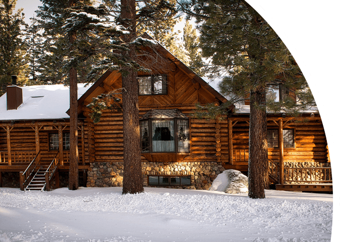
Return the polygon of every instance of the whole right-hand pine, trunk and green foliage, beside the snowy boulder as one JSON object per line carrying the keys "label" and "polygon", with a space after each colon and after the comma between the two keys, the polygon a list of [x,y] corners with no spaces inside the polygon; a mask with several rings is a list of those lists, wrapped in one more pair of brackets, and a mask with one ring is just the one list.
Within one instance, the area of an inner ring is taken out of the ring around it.
{"label": "whole right-hand pine, trunk and green foliage, beside the snowy boulder", "polygon": [[[293,111],[314,105],[307,83],[287,47],[268,23],[245,1],[188,1],[182,10],[200,25],[202,56],[210,59],[211,77],[223,76],[219,84],[230,103],[249,96],[249,197],[265,198],[268,188],[267,108]],[[295,92],[292,99],[266,101],[270,84]],[[301,105],[302,104],[302,105]],[[225,110],[221,107],[221,110]]]}

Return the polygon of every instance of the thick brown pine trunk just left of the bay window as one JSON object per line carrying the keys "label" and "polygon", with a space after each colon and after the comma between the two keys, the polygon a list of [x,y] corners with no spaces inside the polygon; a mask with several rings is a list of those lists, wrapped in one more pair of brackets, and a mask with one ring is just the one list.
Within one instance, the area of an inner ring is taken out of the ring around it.
{"label": "thick brown pine trunk just left of the bay window", "polygon": [[[129,22],[124,25],[131,35],[127,42],[136,38],[135,0],[124,0],[121,15]],[[136,61],[134,46],[124,53],[132,61]],[[140,128],[139,128],[139,86],[137,72],[130,67],[122,75],[123,85],[123,129],[124,129],[124,178],[123,194],[144,191],[141,173]]]}

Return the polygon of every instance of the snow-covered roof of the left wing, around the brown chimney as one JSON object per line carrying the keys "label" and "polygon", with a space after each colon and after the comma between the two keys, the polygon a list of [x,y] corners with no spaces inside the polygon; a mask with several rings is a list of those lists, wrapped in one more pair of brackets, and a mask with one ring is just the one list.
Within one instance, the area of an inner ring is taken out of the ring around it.
{"label": "snow-covered roof of the left wing, around the brown chimney", "polygon": [[[78,98],[91,84],[78,84]],[[26,86],[22,88],[22,104],[7,110],[7,93],[0,97],[0,120],[33,120],[69,118],[69,87],[65,85]]]}

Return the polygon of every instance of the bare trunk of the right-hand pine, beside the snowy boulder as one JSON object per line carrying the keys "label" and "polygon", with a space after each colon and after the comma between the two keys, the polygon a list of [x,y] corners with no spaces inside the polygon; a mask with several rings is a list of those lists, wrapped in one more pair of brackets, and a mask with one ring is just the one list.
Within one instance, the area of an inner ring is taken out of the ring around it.
{"label": "bare trunk of the right-hand pine, beside the snowy boulder", "polygon": [[267,113],[258,106],[264,91],[250,93],[248,196],[265,198],[268,188]]}

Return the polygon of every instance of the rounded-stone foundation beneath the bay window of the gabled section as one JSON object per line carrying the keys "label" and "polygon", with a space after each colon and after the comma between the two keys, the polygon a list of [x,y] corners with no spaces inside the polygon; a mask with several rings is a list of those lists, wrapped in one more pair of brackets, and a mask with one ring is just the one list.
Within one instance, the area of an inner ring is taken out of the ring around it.
{"label": "rounded-stone foundation beneath the bay window of the gabled section", "polygon": [[[209,162],[142,162],[144,186],[149,186],[148,176],[189,176],[191,185],[165,186],[171,188],[208,190],[218,174],[224,171],[221,163]],[[122,162],[94,162],[87,173],[88,187],[123,186]]]}

